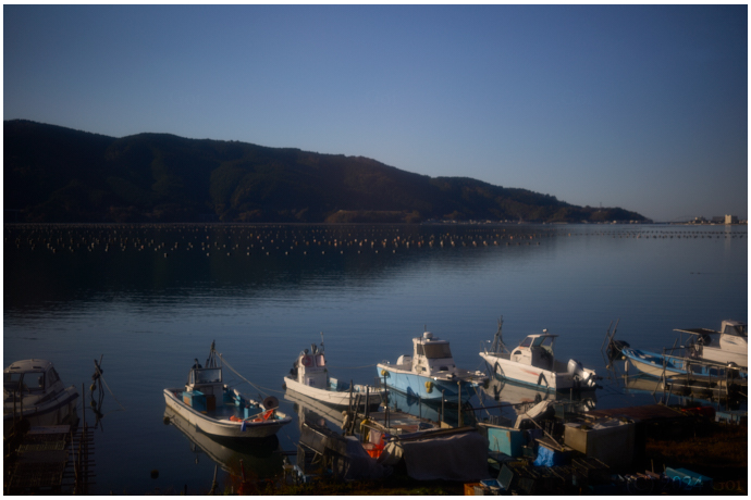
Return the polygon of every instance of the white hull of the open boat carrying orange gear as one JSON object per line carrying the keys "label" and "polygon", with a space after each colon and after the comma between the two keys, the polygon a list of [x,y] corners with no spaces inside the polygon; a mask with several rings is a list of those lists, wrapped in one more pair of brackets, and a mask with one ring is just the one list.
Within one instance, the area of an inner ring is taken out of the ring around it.
{"label": "white hull of the open boat carrying orange gear", "polygon": [[167,405],[174,410],[180,416],[185,418],[195,428],[211,436],[239,439],[263,438],[276,434],[280,428],[292,422],[292,418],[286,415],[279,420],[245,422],[245,425],[243,425],[243,422],[214,418],[209,414],[196,411],[195,409],[185,404],[182,399],[180,399],[180,395],[182,395],[182,388],[164,389],[164,401],[167,402]]}

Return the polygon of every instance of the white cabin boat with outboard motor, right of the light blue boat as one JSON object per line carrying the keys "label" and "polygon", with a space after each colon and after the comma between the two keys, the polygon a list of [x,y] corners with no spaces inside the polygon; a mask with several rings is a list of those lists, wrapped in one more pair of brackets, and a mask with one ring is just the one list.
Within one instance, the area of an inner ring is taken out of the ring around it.
{"label": "white cabin boat with outboard motor, right of the light blue boat", "polygon": [[501,379],[512,380],[535,387],[540,390],[587,390],[598,387],[596,374],[584,368],[576,360],[568,362],[555,359],[555,340],[557,335],[528,335],[510,351],[503,342],[503,320],[492,343],[480,352],[489,368]]}

